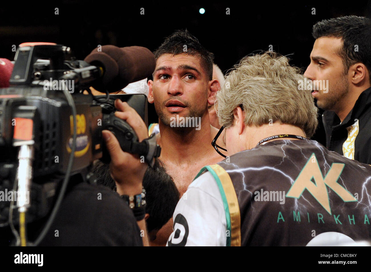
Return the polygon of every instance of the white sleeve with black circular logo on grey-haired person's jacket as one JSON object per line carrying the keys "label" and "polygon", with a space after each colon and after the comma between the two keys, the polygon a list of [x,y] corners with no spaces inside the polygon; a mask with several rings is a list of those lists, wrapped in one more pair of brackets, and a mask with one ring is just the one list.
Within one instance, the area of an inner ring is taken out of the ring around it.
{"label": "white sleeve with black circular logo on grey-haired person's jacket", "polygon": [[188,186],[175,208],[173,220],[167,246],[226,246],[223,200],[210,172]]}

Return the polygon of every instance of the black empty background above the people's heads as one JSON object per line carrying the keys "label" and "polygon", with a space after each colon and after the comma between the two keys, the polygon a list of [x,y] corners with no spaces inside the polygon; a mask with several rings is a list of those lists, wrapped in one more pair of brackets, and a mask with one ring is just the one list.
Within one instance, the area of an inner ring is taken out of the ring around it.
{"label": "black empty background above the people's heads", "polygon": [[[247,54],[268,50],[269,45],[289,56],[290,63],[309,64],[314,39],[311,29],[322,19],[344,15],[368,16],[371,1],[42,1],[0,4],[0,57],[13,60],[12,46],[27,41],[47,41],[69,46],[78,59],[98,44],[144,46],[154,51],[174,30],[187,28],[215,54],[215,63],[226,73]],[[140,9],[144,8],[144,15]],[[200,8],[204,14],[199,13]],[[55,8],[59,14],[55,14]],[[230,8],[230,15],[226,15]],[[315,14],[312,14],[315,8]],[[150,122],[156,121],[150,108]],[[324,142],[319,127],[316,140]]]}

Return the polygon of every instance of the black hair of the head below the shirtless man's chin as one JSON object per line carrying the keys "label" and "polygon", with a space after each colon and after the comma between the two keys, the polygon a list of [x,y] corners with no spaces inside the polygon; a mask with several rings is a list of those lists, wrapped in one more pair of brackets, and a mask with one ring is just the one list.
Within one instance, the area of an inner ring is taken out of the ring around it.
{"label": "black hair of the head below the shirtless man's chin", "polygon": [[[97,177],[97,184],[104,185],[116,191],[115,181],[109,174],[109,164],[96,161],[93,172]],[[143,178],[143,187],[146,190],[146,220],[148,232],[161,229],[173,216],[175,207],[180,199],[179,191],[173,178],[167,174],[160,159],[155,159],[154,167],[148,167]]]}

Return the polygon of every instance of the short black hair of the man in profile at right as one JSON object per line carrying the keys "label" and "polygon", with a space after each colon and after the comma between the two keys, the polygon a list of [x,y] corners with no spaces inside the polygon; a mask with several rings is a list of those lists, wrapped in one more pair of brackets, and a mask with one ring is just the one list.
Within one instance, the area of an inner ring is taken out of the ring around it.
{"label": "short black hair of the man in profile at right", "polygon": [[[313,26],[312,35],[315,39],[342,38],[343,46],[338,55],[343,59],[345,74],[355,63],[363,63],[371,72],[370,19],[352,15],[322,20]],[[356,45],[358,50],[355,50]]]}

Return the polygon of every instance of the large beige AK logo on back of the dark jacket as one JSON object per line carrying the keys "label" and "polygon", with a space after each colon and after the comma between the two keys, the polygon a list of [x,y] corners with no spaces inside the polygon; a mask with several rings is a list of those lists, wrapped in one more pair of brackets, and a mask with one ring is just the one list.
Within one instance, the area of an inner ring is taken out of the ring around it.
{"label": "large beige AK logo on back of the dark jacket", "polygon": [[[287,192],[286,197],[300,198],[304,190],[307,189],[329,214],[331,214],[331,208],[326,185],[338,194],[344,202],[357,201],[350,192],[338,184],[338,179],[344,166],[345,164],[342,163],[333,163],[325,177],[323,177],[317,158],[315,154],[312,153]],[[313,183],[312,180],[314,180],[315,183]]]}

